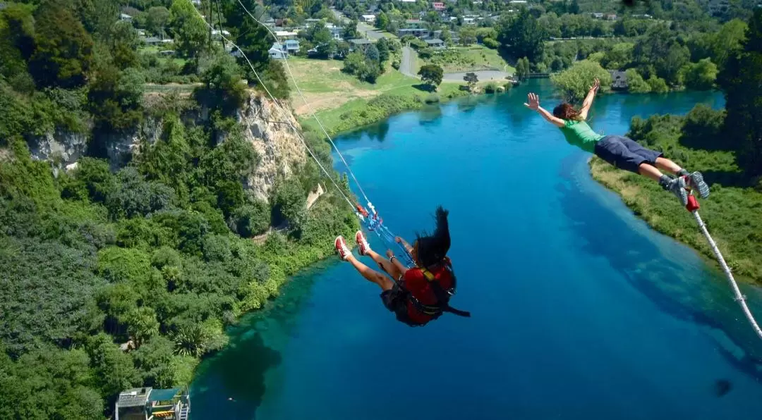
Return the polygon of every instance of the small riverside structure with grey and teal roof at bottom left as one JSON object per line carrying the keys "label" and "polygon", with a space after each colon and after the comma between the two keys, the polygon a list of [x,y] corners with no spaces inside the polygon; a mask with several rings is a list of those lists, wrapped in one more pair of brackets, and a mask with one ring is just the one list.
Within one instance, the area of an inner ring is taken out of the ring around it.
{"label": "small riverside structure with grey and teal roof at bottom left", "polygon": [[114,405],[115,420],[187,420],[190,412],[191,396],[181,388],[155,390],[143,387],[122,391]]}

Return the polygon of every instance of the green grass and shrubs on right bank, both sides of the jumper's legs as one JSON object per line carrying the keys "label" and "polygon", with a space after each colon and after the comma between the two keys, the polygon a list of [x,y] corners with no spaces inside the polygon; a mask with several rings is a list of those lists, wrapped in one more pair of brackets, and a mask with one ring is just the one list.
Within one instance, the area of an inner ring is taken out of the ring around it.
{"label": "green grass and shrubs on right bank, both sides of the jumper's legs", "polygon": [[[661,118],[653,116],[652,120]],[[762,285],[762,192],[739,182],[741,172],[731,151],[708,151],[681,145],[680,119],[654,123],[648,138],[680,162],[704,173],[711,186],[708,199],[700,199],[700,215],[719,249],[739,280]],[[642,139],[639,139],[642,141]],[[653,145],[652,145],[653,146]],[[712,262],[716,261],[693,217],[657,183],[617,170],[595,157],[591,173],[599,183],[613,189],[633,212],[656,231],[686,243]]]}

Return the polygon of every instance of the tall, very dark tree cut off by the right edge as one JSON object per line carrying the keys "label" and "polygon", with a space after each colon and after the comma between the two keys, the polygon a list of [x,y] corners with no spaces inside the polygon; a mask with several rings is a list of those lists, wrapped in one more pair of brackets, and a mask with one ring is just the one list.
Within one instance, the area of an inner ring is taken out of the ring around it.
{"label": "tall, very dark tree cut off by the right edge", "polygon": [[725,133],[738,138],[738,163],[750,175],[762,173],[762,9],[748,24],[743,50],[730,56],[719,76],[725,93]]}

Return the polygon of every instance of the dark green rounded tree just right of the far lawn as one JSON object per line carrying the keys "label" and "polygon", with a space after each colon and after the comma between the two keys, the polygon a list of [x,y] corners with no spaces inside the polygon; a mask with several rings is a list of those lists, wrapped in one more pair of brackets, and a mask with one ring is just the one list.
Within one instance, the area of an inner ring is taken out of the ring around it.
{"label": "dark green rounded tree just right of the far lawn", "polygon": [[536,62],[543,55],[546,32],[530,12],[523,8],[516,18],[502,18],[498,24],[498,41],[515,57]]}

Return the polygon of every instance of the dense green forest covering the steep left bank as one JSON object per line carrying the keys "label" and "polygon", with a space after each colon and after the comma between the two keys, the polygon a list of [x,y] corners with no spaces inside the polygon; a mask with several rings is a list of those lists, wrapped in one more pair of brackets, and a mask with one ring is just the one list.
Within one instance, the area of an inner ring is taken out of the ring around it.
{"label": "dense green forest covering the steep left bank", "polygon": [[[244,189],[259,157],[235,116],[261,86],[209,41],[191,2],[130,7],[167,10],[156,30],[174,37],[182,67],[139,53],[117,2],[0,10],[0,418],[104,418],[121,390],[189,383],[227,325],[357,228],[331,192],[308,211],[307,192],[325,182],[312,161],[267,200]],[[249,29],[232,37],[287,95],[271,43]],[[147,100],[146,81],[162,74],[199,84]],[[114,167],[114,136],[147,119],[160,138]],[[87,138],[73,169],[30,157],[56,131]],[[330,168],[329,146],[306,142]]]}

